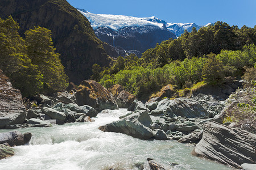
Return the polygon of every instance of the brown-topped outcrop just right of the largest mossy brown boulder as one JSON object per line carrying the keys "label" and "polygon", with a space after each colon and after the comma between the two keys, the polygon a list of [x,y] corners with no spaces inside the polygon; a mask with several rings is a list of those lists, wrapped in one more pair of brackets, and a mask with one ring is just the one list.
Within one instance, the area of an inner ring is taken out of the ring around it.
{"label": "brown-topped outcrop just right of the largest mossy brown boulder", "polygon": [[118,108],[129,108],[135,100],[135,96],[123,90],[123,87],[119,84],[110,87],[109,91],[113,94]]}

